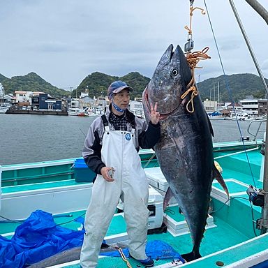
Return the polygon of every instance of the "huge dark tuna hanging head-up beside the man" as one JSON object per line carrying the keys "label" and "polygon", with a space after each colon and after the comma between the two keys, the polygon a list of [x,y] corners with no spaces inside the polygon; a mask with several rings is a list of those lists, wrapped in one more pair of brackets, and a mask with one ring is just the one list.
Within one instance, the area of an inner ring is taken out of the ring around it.
{"label": "huge dark tuna hanging head-up beside the man", "polygon": [[157,102],[157,111],[161,114],[161,139],[154,149],[170,186],[167,198],[171,190],[191,231],[193,250],[183,255],[187,261],[201,257],[199,249],[214,177],[218,176],[224,184],[214,166],[212,128],[200,96],[193,97],[188,109],[192,92],[181,98],[191,78],[184,52],[179,46],[173,52],[170,45],[143,93],[147,121],[151,104]]}

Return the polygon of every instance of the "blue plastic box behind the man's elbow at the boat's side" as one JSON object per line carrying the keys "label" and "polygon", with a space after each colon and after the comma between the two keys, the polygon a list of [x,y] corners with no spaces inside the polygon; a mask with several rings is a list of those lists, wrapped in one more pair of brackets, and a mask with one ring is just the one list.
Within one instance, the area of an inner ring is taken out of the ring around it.
{"label": "blue plastic box behind the man's elbow at the boat's side", "polygon": [[96,173],[93,172],[86,163],[84,163],[83,158],[75,159],[73,163],[73,172],[75,173],[76,182],[92,182],[96,177]]}

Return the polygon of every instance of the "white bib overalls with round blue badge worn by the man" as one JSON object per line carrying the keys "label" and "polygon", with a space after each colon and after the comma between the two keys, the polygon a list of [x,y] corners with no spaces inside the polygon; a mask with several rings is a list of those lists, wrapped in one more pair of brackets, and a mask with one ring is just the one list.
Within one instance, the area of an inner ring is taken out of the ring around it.
{"label": "white bib overalls with round blue badge worn by the man", "polygon": [[95,268],[101,244],[112,221],[119,198],[124,200],[129,251],[133,258],[144,260],[147,242],[149,210],[148,182],[142,169],[140,156],[135,149],[135,131],[110,131],[105,126],[103,163],[114,168],[114,181],[106,181],[98,174],[92,188],[87,209],[80,264],[83,268]]}

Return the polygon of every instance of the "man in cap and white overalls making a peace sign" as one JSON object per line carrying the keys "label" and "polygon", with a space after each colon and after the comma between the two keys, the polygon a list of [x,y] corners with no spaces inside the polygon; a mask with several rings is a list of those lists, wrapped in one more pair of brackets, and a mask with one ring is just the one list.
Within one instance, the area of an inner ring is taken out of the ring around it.
{"label": "man in cap and white overalls making a peace sign", "polygon": [[142,169],[139,148],[153,148],[161,132],[157,103],[151,107],[147,125],[128,110],[129,92],[125,82],[110,84],[107,95],[110,107],[89,128],[82,156],[98,175],[91,193],[84,228],[80,263],[83,268],[96,267],[101,244],[112,221],[119,198],[124,201],[129,253],[146,267],[154,260],[145,254],[149,210],[148,183]]}

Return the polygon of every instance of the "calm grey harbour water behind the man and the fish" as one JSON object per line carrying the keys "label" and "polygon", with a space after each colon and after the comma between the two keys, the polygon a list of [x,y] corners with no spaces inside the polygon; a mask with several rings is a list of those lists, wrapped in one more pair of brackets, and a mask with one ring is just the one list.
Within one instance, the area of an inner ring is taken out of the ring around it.
{"label": "calm grey harbour water behind the man and the fish", "polygon": [[[77,158],[95,117],[0,114],[0,164]],[[240,140],[237,121],[212,120],[214,142]],[[249,121],[239,121],[244,137]],[[253,130],[257,129],[253,126]],[[263,124],[262,129],[265,127]],[[250,136],[251,137],[251,136]],[[263,137],[263,133],[258,136]]]}

